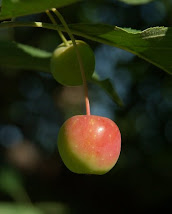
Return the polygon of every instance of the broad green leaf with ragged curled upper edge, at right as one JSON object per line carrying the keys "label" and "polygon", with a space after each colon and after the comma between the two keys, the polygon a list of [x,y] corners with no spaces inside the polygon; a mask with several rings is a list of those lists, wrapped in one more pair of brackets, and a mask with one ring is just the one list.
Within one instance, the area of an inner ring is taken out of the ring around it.
{"label": "broad green leaf with ragged curled upper edge, at right", "polygon": [[73,24],[79,36],[129,51],[172,74],[172,28],[152,27],[144,31],[104,24]]}

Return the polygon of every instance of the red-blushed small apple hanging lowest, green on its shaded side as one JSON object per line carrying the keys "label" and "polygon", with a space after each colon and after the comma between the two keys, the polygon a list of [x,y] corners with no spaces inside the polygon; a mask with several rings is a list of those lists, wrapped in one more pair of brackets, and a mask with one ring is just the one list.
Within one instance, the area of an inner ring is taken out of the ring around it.
{"label": "red-blushed small apple hanging lowest, green on its shaded side", "polygon": [[76,115],[62,125],[58,149],[72,172],[102,175],[118,160],[121,134],[118,126],[106,117]]}

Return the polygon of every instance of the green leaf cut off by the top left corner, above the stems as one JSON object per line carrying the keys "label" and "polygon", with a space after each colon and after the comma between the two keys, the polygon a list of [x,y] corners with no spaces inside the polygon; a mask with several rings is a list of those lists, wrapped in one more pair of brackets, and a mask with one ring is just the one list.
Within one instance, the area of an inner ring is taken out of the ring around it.
{"label": "green leaf cut off by the top left corner, above the stems", "polygon": [[53,7],[59,8],[80,0],[3,0],[0,20],[40,13]]}

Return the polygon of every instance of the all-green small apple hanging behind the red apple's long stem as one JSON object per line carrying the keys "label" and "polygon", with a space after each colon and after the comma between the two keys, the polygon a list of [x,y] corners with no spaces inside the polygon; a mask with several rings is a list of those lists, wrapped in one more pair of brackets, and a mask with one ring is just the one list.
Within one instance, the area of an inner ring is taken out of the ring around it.
{"label": "all-green small apple hanging behind the red apple's long stem", "polygon": [[[64,43],[59,45],[51,58],[51,73],[55,80],[62,85],[82,85],[82,76],[72,41],[69,46]],[[83,41],[76,40],[76,44],[82,59],[86,79],[90,79],[95,68],[95,57],[92,49]]]}

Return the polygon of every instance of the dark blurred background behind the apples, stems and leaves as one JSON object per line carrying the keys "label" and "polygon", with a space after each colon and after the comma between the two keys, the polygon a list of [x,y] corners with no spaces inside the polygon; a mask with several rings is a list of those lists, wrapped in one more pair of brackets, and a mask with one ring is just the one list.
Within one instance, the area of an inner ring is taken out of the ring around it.
{"label": "dark blurred background behind the apples, stems and leaves", "polygon": [[[85,1],[60,12],[68,23],[172,26],[171,0],[141,6]],[[43,13],[18,20],[49,22]],[[57,32],[32,28],[1,30],[0,39],[49,52],[61,43]],[[85,113],[82,87],[63,87],[50,74],[0,68],[0,201],[32,202],[48,214],[172,211],[172,77],[121,49],[85,41],[95,52],[97,73],[124,102],[118,107],[89,83],[92,114],[111,118],[121,130],[116,166],[103,176],[77,175],[60,159],[60,126]]]}

